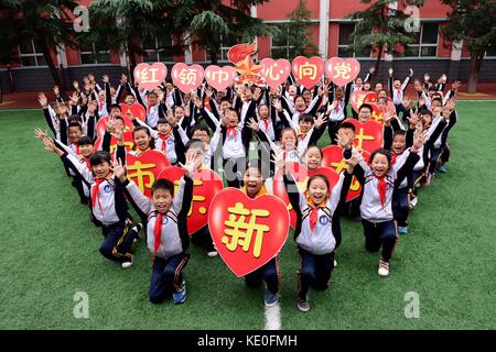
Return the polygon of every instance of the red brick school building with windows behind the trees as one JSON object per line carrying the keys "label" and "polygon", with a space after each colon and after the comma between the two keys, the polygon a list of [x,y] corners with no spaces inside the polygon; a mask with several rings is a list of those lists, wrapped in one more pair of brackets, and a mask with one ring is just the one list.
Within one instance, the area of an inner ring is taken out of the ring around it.
{"label": "red brick school building with windows behind the trees", "polygon": [[[90,0],[80,0],[83,6],[89,4]],[[298,0],[272,0],[262,6],[254,7],[251,15],[262,19],[265,22],[280,26],[289,22],[287,15],[296,6]],[[356,57],[362,64],[362,76],[370,67],[376,57],[371,53],[353,53],[347,45],[349,44],[349,33],[354,30],[354,23],[346,19],[346,15],[353,11],[364,9],[365,6],[359,0],[306,0],[306,7],[311,12],[311,25],[309,34],[319,46],[323,57]],[[392,66],[399,76],[412,67],[417,75],[423,75],[429,72],[432,77],[439,77],[445,73],[449,80],[459,78],[462,81],[467,80],[470,54],[462,45],[448,43],[440,35],[440,28],[446,21],[449,7],[442,6],[439,0],[427,0],[420,8],[421,28],[417,34],[417,42],[412,45],[413,55],[406,57],[391,57],[385,55],[386,63],[381,65],[378,79],[385,79],[386,70]],[[287,35],[274,37],[258,38],[258,59],[263,57],[287,57],[291,58],[291,47],[287,45]],[[174,63],[198,63],[207,65],[209,63],[208,54],[198,47],[188,47],[184,54],[172,56],[165,51],[159,51],[162,43],[173,44],[170,37],[145,38],[143,48],[147,50],[144,57],[139,56],[138,62],[163,62],[169,67]],[[219,64],[227,64],[227,50],[235,43],[228,40],[223,42],[223,47],[218,55]],[[36,43],[26,40],[19,45],[19,62],[9,68],[0,66],[0,80],[2,89],[10,91],[13,87],[18,91],[48,89],[53,85],[50,70],[44,63],[43,55]],[[110,51],[95,53],[94,46],[84,47],[80,51],[74,51],[65,47],[52,53],[54,62],[63,70],[63,77],[66,82],[73,79],[80,79],[88,73],[96,76],[109,74],[112,81],[117,76],[127,72],[128,63],[126,55]],[[486,53],[486,58],[482,65],[479,81],[496,81],[496,52]]]}

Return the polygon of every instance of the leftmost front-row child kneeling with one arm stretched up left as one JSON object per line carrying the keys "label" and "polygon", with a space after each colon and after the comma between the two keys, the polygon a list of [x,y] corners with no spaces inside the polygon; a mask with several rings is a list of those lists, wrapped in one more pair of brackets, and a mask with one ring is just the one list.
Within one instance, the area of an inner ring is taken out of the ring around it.
{"label": "leftmost front-row child kneeling with one arm stretched up left", "polygon": [[[101,255],[121,264],[122,268],[131,267],[133,256],[131,245],[139,239],[141,224],[132,227],[129,220],[123,186],[114,175],[110,154],[97,152],[89,158],[91,172],[74,155],[60,150],[50,139],[43,140],[45,148],[72,164],[89,187],[91,213],[101,223],[105,237],[99,249]],[[123,148],[120,145],[119,148]]]}

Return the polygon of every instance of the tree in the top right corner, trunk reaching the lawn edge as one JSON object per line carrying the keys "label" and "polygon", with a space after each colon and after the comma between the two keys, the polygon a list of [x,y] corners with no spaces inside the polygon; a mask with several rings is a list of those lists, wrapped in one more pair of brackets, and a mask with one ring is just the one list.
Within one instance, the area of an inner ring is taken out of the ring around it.
{"label": "tree in the top right corner, trunk reaching the lawn edge", "polygon": [[478,74],[486,51],[496,47],[496,1],[442,0],[452,10],[442,34],[450,41],[463,41],[471,53],[468,89],[477,91]]}

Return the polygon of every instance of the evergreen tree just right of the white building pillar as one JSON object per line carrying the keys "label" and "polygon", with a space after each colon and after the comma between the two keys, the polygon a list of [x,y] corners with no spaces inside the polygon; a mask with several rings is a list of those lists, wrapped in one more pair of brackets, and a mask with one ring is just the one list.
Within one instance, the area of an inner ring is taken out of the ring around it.
{"label": "evergreen tree just right of the white building pillar", "polygon": [[[402,55],[408,52],[408,44],[414,42],[414,33],[410,32],[407,21],[409,15],[400,10],[391,8],[393,3],[406,6],[406,1],[397,0],[360,0],[368,4],[363,11],[355,11],[347,16],[356,21],[355,31],[352,33],[353,43],[351,47],[354,52],[377,53],[375,72],[379,72],[382,54]],[[423,6],[423,0],[408,1],[408,4]],[[397,48],[401,47],[402,51]]]}

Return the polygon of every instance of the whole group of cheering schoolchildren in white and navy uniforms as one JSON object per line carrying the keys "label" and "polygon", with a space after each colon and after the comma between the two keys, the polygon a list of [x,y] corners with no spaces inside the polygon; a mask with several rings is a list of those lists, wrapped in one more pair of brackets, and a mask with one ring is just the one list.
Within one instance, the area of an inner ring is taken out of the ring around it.
{"label": "whole group of cheering schoolchildren in white and navy uniforms", "polygon": [[[378,274],[387,276],[398,232],[408,232],[408,216],[418,202],[418,189],[429,186],[436,172],[446,170],[448,134],[457,119],[454,97],[460,82],[444,94],[446,77],[432,82],[425,75],[423,82],[414,80],[419,97],[413,101],[405,94],[413,70],[401,82],[389,69],[389,89],[379,81],[374,85],[382,110],[384,145],[371,151],[366,163],[353,144],[355,125],[344,120],[370,120],[370,105],[363,103],[358,111],[352,109],[348,113],[348,101],[355,90],[370,91],[373,75],[370,69],[365,79],[358,77],[345,87],[322,81],[310,90],[289,80],[277,89],[233,85],[217,91],[203,84],[190,94],[182,94],[169,81],[147,91],[131,85],[126,75],[121,75],[117,88],[110,87],[108,76],[104,76],[101,87],[88,75],[83,86],[74,81],[67,100],[56,87],[52,105],[44,94],[39,94],[53,138],[41,129],[35,130],[35,135],[47,151],[60,155],[80,202],[89,205],[90,220],[103,230],[99,251],[106,258],[120,263],[122,268],[130,267],[132,245],[145,231],[153,254],[149,298],[154,304],[171,294],[175,304],[186,299],[182,273],[190,260],[190,241],[203,245],[208,256],[217,255],[207,226],[188,235],[186,219],[194,172],[212,168],[224,176],[227,186],[239,188],[249,198],[270,194],[274,175],[281,172],[296,213],[294,241],[301,256],[298,308],[308,311],[309,288],[325,289],[337,264],[339,218],[348,215],[345,199],[353,176],[363,189],[354,205],[359,207],[357,218],[363,223],[365,248],[369,252],[381,250]],[[389,99],[393,109],[387,108]],[[123,113],[121,100],[127,106],[141,105],[144,121]],[[157,179],[148,198],[127,178],[123,134],[131,128],[125,116],[133,124],[129,154],[139,156],[157,150],[185,170],[176,191],[172,182]],[[97,123],[103,118],[106,130],[96,147]],[[317,142],[326,127],[330,143],[342,147],[347,165],[334,186],[317,172],[324,166]],[[112,138],[118,141],[115,151]],[[255,157],[254,145],[258,152]],[[288,167],[291,162],[305,165],[312,175],[304,191]],[[139,215],[139,222],[130,217],[129,205]],[[246,276],[248,286],[258,286],[262,280],[267,285],[265,304],[271,307],[279,300],[278,255]]]}

